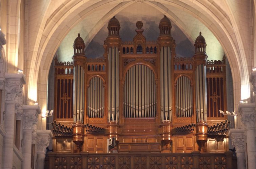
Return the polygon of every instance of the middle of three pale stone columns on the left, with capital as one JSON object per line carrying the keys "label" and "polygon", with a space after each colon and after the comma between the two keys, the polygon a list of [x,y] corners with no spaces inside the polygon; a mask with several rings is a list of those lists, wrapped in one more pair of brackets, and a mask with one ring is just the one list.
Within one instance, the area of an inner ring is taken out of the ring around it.
{"label": "middle of three pale stone columns on the left, with capital", "polygon": [[31,148],[32,148],[32,132],[33,124],[37,123],[38,114],[40,114],[39,105],[24,105],[23,106],[23,146],[22,155],[24,161],[22,162],[23,169],[31,168]]}

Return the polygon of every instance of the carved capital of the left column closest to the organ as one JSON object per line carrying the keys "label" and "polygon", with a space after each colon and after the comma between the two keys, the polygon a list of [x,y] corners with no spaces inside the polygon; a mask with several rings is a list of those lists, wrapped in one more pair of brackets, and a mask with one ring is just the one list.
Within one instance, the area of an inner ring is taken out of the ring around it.
{"label": "carved capital of the left column closest to the organ", "polygon": [[53,134],[51,130],[37,131],[37,154],[45,154],[46,147],[48,147]]}

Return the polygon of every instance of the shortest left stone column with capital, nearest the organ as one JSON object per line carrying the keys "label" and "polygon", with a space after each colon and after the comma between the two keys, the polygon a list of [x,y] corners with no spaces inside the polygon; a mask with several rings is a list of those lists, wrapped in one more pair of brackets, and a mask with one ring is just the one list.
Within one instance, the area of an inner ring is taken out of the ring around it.
{"label": "shortest left stone column with capital, nearest the organ", "polygon": [[51,130],[37,131],[37,169],[44,169],[45,150],[48,147],[53,134]]}

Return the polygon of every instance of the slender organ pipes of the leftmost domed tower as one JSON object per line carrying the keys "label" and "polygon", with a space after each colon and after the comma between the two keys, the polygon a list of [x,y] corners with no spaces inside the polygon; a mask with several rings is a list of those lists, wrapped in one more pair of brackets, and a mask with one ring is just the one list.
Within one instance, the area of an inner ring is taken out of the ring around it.
{"label": "slender organ pipes of the leftmost domed tower", "polygon": [[74,98],[73,117],[74,123],[83,123],[84,116],[84,70],[79,65],[74,66]]}

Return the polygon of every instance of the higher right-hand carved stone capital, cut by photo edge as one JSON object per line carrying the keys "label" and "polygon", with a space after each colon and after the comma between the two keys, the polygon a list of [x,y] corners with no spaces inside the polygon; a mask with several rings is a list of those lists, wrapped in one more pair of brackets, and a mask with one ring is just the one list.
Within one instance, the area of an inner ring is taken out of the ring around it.
{"label": "higher right-hand carved stone capital, cut by photo edge", "polygon": [[238,112],[241,116],[241,122],[245,126],[245,129],[255,129],[255,104],[244,103],[238,105]]}

